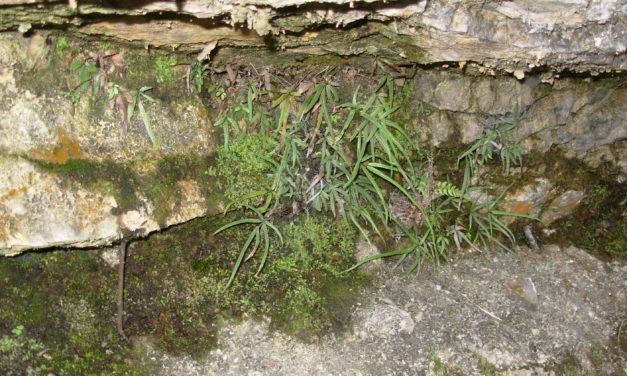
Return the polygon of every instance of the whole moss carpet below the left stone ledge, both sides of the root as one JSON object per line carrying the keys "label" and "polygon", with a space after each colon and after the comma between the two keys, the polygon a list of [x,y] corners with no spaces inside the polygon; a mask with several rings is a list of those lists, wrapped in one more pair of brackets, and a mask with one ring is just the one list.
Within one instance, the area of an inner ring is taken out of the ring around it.
{"label": "whole moss carpet below the left stone ledge, both sides of the root", "polygon": [[[226,220],[194,220],[129,245],[127,335],[148,337],[169,354],[201,356],[215,347],[222,317],[268,317],[304,340],[347,324],[366,283],[342,273],[354,262],[353,231],[323,216],[282,222],[285,243],[271,249],[264,272],[256,275],[259,261],[252,258],[225,289],[246,235],[214,236]],[[151,373],[116,332],[117,270],[106,266],[102,251],[0,259],[0,273],[0,373]]]}

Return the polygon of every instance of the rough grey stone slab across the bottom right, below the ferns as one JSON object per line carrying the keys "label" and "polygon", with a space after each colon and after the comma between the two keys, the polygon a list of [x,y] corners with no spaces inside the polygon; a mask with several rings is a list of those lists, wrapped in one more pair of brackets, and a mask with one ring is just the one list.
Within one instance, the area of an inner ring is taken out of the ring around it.
{"label": "rough grey stone slab across the bottom right, below the ferns", "polygon": [[468,254],[402,277],[383,265],[349,329],[303,343],[226,321],[202,359],[136,344],[163,375],[626,375],[627,263],[575,247]]}

